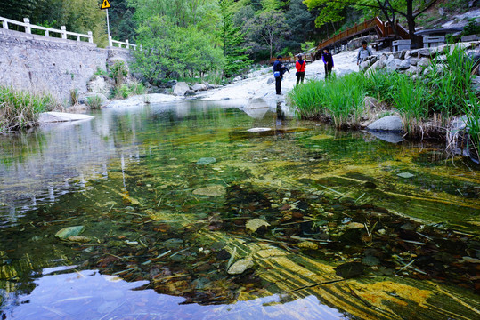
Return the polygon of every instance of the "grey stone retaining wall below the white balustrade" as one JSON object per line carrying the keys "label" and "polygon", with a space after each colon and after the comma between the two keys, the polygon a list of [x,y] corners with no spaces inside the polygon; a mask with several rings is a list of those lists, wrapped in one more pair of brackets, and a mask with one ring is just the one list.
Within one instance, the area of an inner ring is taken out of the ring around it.
{"label": "grey stone retaining wall below the white balustrade", "polygon": [[117,51],[0,28],[0,85],[28,92],[50,92],[66,105],[71,90],[85,93],[86,84],[97,69],[105,70],[109,52],[110,56],[131,60],[127,50]]}

